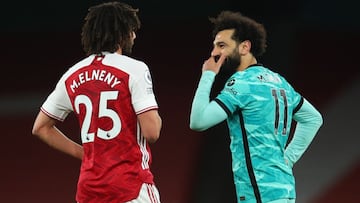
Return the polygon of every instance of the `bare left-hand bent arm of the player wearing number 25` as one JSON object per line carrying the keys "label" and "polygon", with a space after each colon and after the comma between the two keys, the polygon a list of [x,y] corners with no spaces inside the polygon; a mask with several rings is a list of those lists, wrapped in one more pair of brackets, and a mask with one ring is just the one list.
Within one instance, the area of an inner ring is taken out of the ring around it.
{"label": "bare left-hand bent arm of the player wearing number 25", "polygon": [[66,137],[56,128],[56,123],[56,119],[53,119],[40,111],[35,119],[32,134],[39,137],[43,142],[53,148],[75,158],[82,159],[82,146]]}

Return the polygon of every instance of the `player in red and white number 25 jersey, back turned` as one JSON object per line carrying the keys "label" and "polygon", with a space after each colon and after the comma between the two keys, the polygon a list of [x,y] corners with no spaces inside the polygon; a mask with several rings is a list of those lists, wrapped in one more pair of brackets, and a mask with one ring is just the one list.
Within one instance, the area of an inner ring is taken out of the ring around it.
{"label": "player in red and white number 25 jersey, back turned", "polygon": [[[87,57],[61,77],[34,122],[34,135],[82,160],[78,203],[160,202],[148,143],[162,122],[148,66],[127,56],[140,28],[137,12],[120,2],[89,9],[81,35]],[[71,112],[82,145],[56,128]]]}

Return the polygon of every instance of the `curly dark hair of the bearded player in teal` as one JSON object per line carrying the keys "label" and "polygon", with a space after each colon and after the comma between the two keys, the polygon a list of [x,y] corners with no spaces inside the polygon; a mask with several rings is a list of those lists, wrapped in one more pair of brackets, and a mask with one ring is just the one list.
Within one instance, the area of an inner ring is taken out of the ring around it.
{"label": "curly dark hair of the bearded player in teal", "polygon": [[222,30],[234,29],[233,40],[237,43],[249,40],[251,42],[250,51],[255,57],[265,53],[266,30],[262,24],[233,11],[222,11],[216,18],[209,18],[209,20],[214,24],[214,37]]}

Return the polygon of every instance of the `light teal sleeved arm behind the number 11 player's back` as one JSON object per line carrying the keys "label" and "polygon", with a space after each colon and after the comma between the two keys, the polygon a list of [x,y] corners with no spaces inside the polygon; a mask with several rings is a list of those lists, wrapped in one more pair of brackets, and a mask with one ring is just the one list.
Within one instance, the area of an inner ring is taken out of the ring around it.
{"label": "light teal sleeved arm behind the number 11 player's back", "polygon": [[285,150],[285,159],[290,166],[300,159],[323,123],[320,112],[306,99],[293,119],[297,122],[294,137]]}

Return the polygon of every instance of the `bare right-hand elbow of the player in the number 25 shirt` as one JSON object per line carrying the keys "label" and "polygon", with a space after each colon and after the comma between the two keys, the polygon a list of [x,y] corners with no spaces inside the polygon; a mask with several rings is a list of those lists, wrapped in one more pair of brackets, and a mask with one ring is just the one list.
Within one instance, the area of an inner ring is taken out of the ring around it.
{"label": "bare right-hand elbow of the player in the number 25 shirt", "polygon": [[159,139],[162,120],[157,109],[146,111],[138,116],[141,132],[146,141],[154,143]]}

